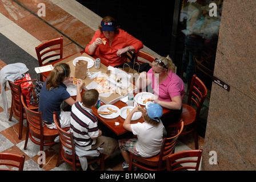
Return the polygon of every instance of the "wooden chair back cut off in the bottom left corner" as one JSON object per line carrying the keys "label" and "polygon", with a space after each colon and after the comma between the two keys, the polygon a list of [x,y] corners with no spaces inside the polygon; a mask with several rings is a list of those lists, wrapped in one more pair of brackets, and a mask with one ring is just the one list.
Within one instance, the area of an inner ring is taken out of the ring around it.
{"label": "wooden chair back cut off in the bottom left corner", "polygon": [[[25,155],[12,154],[9,152],[0,152],[0,166],[11,166],[17,167],[18,171],[23,171],[25,162]],[[1,168],[0,171],[16,171],[15,169],[4,169]]]}

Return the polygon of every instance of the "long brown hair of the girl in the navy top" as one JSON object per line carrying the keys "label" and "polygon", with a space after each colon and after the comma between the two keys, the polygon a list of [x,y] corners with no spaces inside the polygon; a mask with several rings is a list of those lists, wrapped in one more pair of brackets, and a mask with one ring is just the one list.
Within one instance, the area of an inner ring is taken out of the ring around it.
{"label": "long brown hair of the girl in the navy top", "polygon": [[50,77],[46,81],[46,89],[51,90],[58,88],[59,84],[70,75],[70,67],[66,63],[58,64],[50,73]]}

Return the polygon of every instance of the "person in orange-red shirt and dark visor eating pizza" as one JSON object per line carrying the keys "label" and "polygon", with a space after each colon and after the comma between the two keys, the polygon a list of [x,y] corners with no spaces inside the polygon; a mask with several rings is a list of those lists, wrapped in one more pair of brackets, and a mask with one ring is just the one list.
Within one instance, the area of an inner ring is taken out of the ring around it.
{"label": "person in orange-red shirt and dark visor eating pizza", "polygon": [[123,31],[114,18],[106,16],[85,52],[99,57],[101,63],[115,67],[127,62],[127,51],[138,52],[142,48],[140,40]]}

